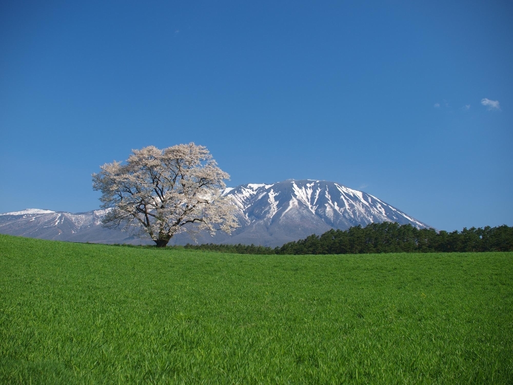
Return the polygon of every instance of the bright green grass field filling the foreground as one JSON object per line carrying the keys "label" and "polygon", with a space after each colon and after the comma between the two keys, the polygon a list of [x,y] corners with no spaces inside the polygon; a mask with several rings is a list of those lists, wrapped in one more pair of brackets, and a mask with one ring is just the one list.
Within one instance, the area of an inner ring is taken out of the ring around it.
{"label": "bright green grass field filling the foreground", "polygon": [[0,235],[0,383],[513,383],[513,253]]}

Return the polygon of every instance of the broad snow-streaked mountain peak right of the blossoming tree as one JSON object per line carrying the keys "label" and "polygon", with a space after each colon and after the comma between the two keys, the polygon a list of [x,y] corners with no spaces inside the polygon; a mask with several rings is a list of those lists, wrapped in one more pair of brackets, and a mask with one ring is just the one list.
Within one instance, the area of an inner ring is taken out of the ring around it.
{"label": "broad snow-streaked mountain peak right of the blossoming tree", "polygon": [[219,234],[199,242],[277,246],[331,228],[347,229],[374,222],[427,227],[366,192],[327,181],[249,183],[227,188],[224,195],[231,196],[239,208],[241,227],[229,237]]}

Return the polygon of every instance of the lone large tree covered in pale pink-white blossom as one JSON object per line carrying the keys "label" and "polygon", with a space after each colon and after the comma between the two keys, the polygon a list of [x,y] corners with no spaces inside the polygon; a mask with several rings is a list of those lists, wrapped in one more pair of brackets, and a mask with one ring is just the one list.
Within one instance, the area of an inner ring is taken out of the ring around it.
{"label": "lone large tree covered in pale pink-white blossom", "polygon": [[106,163],[92,179],[93,189],[102,191],[102,207],[112,208],[104,226],[134,230],[157,246],[184,231],[230,234],[239,226],[231,198],[221,195],[229,175],[204,146],[132,150],[126,162]]}

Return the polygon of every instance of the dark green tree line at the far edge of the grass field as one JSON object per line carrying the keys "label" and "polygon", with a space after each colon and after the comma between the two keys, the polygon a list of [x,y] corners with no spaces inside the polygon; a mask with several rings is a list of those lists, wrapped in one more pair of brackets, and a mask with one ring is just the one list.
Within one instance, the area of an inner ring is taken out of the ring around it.
{"label": "dark green tree line at the far edge of the grass field", "polygon": [[513,227],[507,225],[463,228],[448,233],[418,229],[397,222],[370,223],[347,230],[331,229],[275,248],[255,245],[202,244],[189,249],[236,254],[369,254],[513,251]]}

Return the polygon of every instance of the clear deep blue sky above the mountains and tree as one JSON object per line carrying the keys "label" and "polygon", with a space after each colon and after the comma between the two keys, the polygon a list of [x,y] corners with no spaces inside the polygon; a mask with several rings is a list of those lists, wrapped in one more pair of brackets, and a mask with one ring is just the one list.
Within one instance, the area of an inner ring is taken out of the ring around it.
{"label": "clear deep blue sky above the mountains and tree", "polygon": [[0,212],[95,209],[101,164],[195,142],[230,186],[513,225],[513,3],[417,3],[1,2]]}

